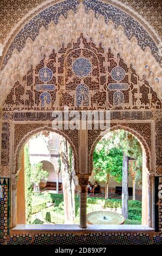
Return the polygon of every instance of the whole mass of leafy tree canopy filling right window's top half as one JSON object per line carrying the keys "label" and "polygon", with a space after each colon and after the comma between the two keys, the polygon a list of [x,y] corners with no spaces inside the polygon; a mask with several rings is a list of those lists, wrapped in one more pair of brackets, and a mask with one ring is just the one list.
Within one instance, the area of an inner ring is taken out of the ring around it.
{"label": "whole mass of leafy tree canopy filling right window's top half", "polygon": [[106,181],[107,174],[117,182],[122,180],[122,155],[134,159],[133,172],[136,182],[141,185],[142,149],[132,134],[123,130],[109,132],[97,143],[94,151],[94,172],[98,181]]}

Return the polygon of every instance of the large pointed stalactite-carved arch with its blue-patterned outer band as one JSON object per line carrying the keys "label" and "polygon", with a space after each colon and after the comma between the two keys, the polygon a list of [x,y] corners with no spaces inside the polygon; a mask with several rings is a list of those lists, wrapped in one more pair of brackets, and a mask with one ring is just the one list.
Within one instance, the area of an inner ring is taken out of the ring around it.
{"label": "large pointed stalactite-carved arch with its blue-patterned outer band", "polygon": [[[34,16],[33,19],[26,24],[26,26],[21,28],[21,31],[19,31],[15,36],[15,41],[13,40],[11,42],[8,53],[6,53],[3,58],[3,63],[6,62],[7,64],[8,62],[8,64],[5,67],[3,66],[4,69],[0,76],[3,97],[5,93],[8,92],[9,87],[12,86],[13,81],[16,81],[17,75],[22,77],[31,65],[36,65],[36,63],[39,62],[44,53],[47,53],[48,56],[48,53],[51,52],[53,48],[55,48],[57,51],[61,42],[65,42],[66,45],[72,39],[76,39],[80,32],[83,33],[83,27],[85,30],[84,36],[87,36],[88,39],[92,37],[97,45],[102,42],[104,47],[112,46],[112,50],[114,50],[113,52],[115,54],[120,52],[128,65],[133,63],[135,69],[138,71],[138,74],[140,74],[141,77],[145,75],[150,84],[153,84],[153,88],[160,96],[160,81],[162,79],[162,71],[159,66],[159,62],[161,61],[161,57],[154,39],[152,39],[146,29],[139,24],[139,21],[134,20],[132,16],[128,16],[128,14],[126,14],[122,8],[116,8],[114,5],[112,5],[112,3],[108,4],[103,1],[96,1],[94,3],[93,0],[91,0],[84,1],[83,4],[78,5],[79,2],[77,0],[70,1],[70,3],[68,3],[67,0],[64,2],[64,4],[62,4],[63,13],[59,13],[58,16],[54,16],[53,22],[50,23],[52,20],[50,16],[52,15],[52,11],[59,8],[61,4],[62,2],[55,3],[50,7],[44,7],[44,10],[41,10],[42,12],[40,12],[39,15]],[[68,8],[66,8],[66,4]],[[98,7],[99,10],[102,9],[103,11],[96,13],[96,7]],[[119,22],[117,25],[115,25],[113,20],[111,19],[112,21],[110,21],[110,17],[106,16],[106,13],[108,13],[106,11],[107,9],[111,10],[109,11],[110,14],[114,12],[119,16],[119,18],[122,16],[124,17],[125,21],[128,19],[130,23],[132,22],[132,27],[138,29],[140,28],[139,35],[144,35],[144,37],[138,38],[138,36],[136,37],[135,34],[132,34],[135,32],[130,33],[126,23],[122,24]],[[39,26],[36,31],[30,32],[30,37],[28,37],[28,33],[25,30],[30,26],[33,26],[35,19],[41,19],[42,13],[43,15],[46,15],[46,12],[50,14],[50,19],[48,19],[47,23],[45,22],[45,28]],[[90,29],[87,25],[87,20],[91,19],[93,19],[92,23],[94,23],[94,29]],[[84,22],[85,26],[83,26]],[[66,28],[66,25],[69,28]],[[55,26],[58,27],[55,28]],[[61,29],[59,29],[59,27]],[[58,34],[56,34],[56,31]],[[64,33],[66,31],[67,33]],[[25,36],[24,40],[20,40],[24,35],[27,35],[27,38]],[[54,42],[56,44],[54,44]],[[18,48],[15,50],[17,45]]]}

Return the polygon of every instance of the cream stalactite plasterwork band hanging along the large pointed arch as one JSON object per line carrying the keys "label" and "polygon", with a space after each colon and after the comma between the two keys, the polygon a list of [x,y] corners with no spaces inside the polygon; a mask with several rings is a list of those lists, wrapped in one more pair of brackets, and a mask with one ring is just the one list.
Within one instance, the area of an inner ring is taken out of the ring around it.
{"label": "cream stalactite plasterwork band hanging along the large pointed arch", "polygon": [[[108,48],[111,47],[115,56],[117,56],[117,53],[120,53],[128,66],[130,63],[133,64],[141,79],[145,75],[147,81],[160,96],[161,67],[158,63],[158,59],[160,59],[158,48],[155,50],[157,46],[151,43],[151,50],[149,44],[139,45],[139,38],[133,35],[131,36],[130,32],[126,34],[126,25],[124,25],[125,27],[122,24],[116,26],[113,20],[105,22],[103,15],[96,16],[94,10],[89,9],[89,7],[87,7],[88,13],[85,13],[83,16],[84,5],[80,4],[77,6],[78,9],[69,11],[66,17],[63,15],[60,16],[56,24],[51,20],[51,23],[49,23],[46,29],[40,27],[39,31],[35,31],[33,39],[27,38],[26,44],[23,43],[23,48],[20,45],[20,50],[18,50],[20,52],[14,50],[8,60],[8,64],[1,72],[1,83],[6,85],[5,89],[2,86],[1,100],[9,92],[11,81],[13,86],[13,82],[17,80],[17,77],[20,77],[20,80],[22,80],[23,75],[29,70],[30,66],[33,65],[35,67],[44,54],[48,57],[53,48],[57,52],[63,41],[66,47],[71,40],[77,40],[80,33],[83,33],[88,40],[92,37],[96,46],[99,46],[99,43],[102,42],[105,51],[108,51]],[[54,38],[57,40],[54,40]],[[153,52],[155,54],[154,57]]]}

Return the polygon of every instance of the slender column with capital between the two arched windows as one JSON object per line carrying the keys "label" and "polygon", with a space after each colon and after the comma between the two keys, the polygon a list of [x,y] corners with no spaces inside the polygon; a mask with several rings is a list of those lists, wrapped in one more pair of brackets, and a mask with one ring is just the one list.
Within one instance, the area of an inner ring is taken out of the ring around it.
{"label": "slender column with capital between the two arched windows", "polygon": [[78,177],[80,193],[79,193],[79,204],[80,204],[80,228],[86,228],[86,200],[87,200],[87,185],[88,185],[89,175],[80,175]]}

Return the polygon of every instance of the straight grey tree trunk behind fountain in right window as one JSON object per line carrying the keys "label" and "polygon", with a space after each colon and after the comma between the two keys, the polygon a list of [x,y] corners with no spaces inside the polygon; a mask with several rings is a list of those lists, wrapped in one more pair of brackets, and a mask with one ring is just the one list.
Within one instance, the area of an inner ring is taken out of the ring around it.
{"label": "straight grey tree trunk behind fountain in right window", "polygon": [[128,218],[128,156],[123,154],[122,167],[122,215]]}

